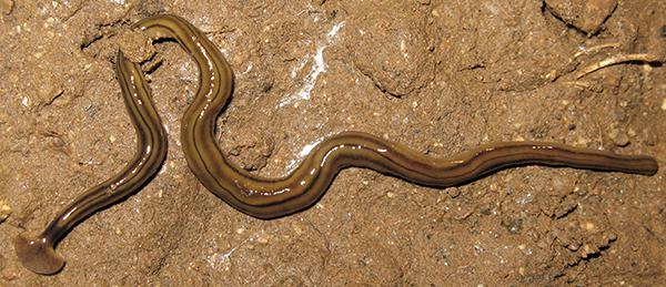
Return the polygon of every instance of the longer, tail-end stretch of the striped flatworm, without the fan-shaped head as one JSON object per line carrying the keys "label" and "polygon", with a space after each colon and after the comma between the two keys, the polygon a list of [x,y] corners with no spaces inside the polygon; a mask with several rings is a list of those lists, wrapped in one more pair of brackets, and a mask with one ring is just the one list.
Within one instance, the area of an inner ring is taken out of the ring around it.
{"label": "longer, tail-end stretch of the striped flatworm, without the fan-shaped head", "polygon": [[258,177],[232,165],[213,135],[215,119],[233,88],[233,74],[224,57],[201,31],[181,18],[151,17],[137,25],[149,35],[175,39],[199,65],[199,91],[182,120],[185,158],[208,189],[254,217],[270,219],[307,208],[322,196],[337,172],[349,166],[438,187],[526,164],[646,175],[657,171],[656,161],[648,156],[617,155],[557,143],[494,143],[462,155],[433,158],[366,133],[344,132],[320,143],[287,176]]}

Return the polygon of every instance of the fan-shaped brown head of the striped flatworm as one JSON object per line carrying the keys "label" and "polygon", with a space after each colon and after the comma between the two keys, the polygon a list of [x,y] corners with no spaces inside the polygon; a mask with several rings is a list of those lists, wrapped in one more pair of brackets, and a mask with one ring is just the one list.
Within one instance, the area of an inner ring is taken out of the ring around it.
{"label": "fan-shaped brown head of the striped flatworm", "polygon": [[44,237],[30,238],[21,234],[14,239],[14,250],[21,264],[37,274],[53,275],[64,266],[64,259]]}

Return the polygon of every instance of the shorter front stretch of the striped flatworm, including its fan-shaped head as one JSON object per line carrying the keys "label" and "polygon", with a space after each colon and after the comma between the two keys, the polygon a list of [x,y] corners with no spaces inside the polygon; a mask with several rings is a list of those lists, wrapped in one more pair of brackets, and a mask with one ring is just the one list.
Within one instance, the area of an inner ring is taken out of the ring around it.
{"label": "shorter front stretch of the striped flatworm, including its fan-shaped head", "polygon": [[91,214],[141,189],[158,173],[167,157],[167,133],[152,104],[141,68],[119,52],[115,69],[130,120],[137,131],[137,152],[120,173],[74,199],[37,238],[24,235],[17,237],[17,255],[23,266],[34,273],[58,273],[64,260],[53,250],[54,245]]}

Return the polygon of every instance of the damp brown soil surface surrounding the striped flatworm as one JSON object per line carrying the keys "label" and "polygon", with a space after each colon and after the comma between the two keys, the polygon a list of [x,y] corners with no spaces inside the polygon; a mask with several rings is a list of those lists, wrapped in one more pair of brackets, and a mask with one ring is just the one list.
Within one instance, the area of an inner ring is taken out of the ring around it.
{"label": "damp brown soil surface surrounding the striped flatworm", "polygon": [[[665,1],[0,0],[0,285],[666,281],[666,69],[630,62],[575,78],[618,54],[665,55]],[[114,54],[132,22],[162,12],[228,57],[236,90],[220,144],[258,174],[282,175],[303,146],[347,130],[432,156],[535,140],[648,154],[663,168],[531,166],[444,189],[350,168],[313,208],[259,221],[189,171],[179,121],[196,68],[167,41],[144,65],[170,131],[163,171],[80,224],[58,247],[59,275],[28,271],[13,237],[40,232],[131,158]]]}

